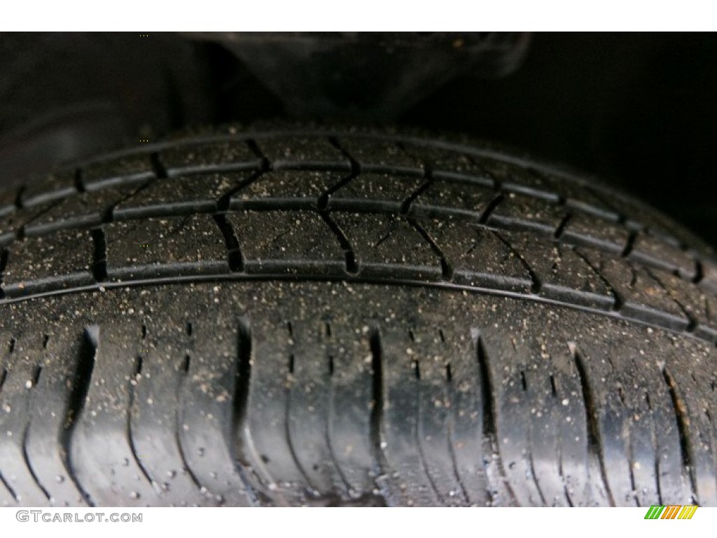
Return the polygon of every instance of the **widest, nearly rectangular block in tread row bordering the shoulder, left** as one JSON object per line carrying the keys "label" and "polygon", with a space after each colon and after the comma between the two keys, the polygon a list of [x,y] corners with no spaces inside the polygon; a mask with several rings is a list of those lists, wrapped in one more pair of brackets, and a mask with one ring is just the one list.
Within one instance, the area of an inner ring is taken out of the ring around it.
{"label": "widest, nearly rectangular block in tread row bordering the shoulder, left", "polygon": [[222,234],[210,215],[112,222],[104,230],[113,279],[229,270]]}

